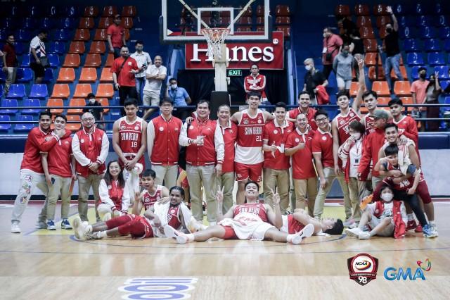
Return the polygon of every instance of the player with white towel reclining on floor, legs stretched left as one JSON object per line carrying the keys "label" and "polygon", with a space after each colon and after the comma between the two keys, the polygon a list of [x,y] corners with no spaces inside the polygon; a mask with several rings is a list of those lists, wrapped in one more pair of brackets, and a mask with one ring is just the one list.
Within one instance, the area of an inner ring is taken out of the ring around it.
{"label": "player with white towel reclining on floor, legs stretched left", "polygon": [[[136,199],[139,199],[140,196],[136,194]],[[189,208],[181,202],[183,199],[184,190],[175,186],[169,191],[169,201],[163,198],[143,215],[122,215],[94,225],[82,223],[81,219],[77,217],[73,222],[75,237],[77,239],[102,239],[120,235],[131,235],[134,239],[165,237],[165,225],[189,232],[188,227],[191,227],[194,219]]]}

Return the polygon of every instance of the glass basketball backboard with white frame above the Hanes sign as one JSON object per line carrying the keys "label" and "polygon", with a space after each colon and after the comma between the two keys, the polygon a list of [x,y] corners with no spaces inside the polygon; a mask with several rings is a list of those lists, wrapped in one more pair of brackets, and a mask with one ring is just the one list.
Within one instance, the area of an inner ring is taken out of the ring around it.
{"label": "glass basketball backboard with white frame above the Hanes sign", "polygon": [[160,42],[205,42],[203,28],[229,28],[225,42],[269,42],[269,0],[162,0]]}

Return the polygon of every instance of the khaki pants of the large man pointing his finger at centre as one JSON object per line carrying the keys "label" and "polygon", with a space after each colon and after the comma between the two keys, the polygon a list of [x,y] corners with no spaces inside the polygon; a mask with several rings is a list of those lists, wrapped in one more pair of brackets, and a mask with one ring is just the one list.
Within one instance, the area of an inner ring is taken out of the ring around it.
{"label": "khaki pants of the large man pointing his finger at centre", "polygon": [[202,185],[206,196],[208,222],[217,222],[216,175],[214,165],[186,165],[186,174],[191,195],[191,209],[195,220],[203,220]]}

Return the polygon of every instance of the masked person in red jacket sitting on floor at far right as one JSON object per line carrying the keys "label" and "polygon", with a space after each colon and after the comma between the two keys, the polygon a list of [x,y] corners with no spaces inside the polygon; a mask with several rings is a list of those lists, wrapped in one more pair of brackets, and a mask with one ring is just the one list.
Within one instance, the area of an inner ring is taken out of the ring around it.
{"label": "masked person in red jacket sitting on floor at far right", "polygon": [[[380,191],[382,200],[368,204],[361,215],[358,227],[346,229],[347,235],[359,239],[370,239],[374,235],[380,237],[393,236],[396,239],[405,236],[408,217],[403,201],[393,200],[394,191],[389,185],[384,184]],[[370,232],[363,231],[366,225],[371,228]]]}

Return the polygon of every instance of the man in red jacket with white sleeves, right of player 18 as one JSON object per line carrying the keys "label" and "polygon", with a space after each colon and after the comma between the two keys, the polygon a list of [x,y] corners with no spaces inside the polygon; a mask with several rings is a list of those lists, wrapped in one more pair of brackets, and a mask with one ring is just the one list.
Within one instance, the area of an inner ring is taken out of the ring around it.
{"label": "man in red jacket with white sleeves, right of player 18", "polygon": [[151,168],[155,171],[155,185],[170,189],[176,185],[178,175],[178,139],[183,122],[172,115],[174,103],[165,98],[160,101],[161,115],[150,120],[147,126],[147,151]]}

